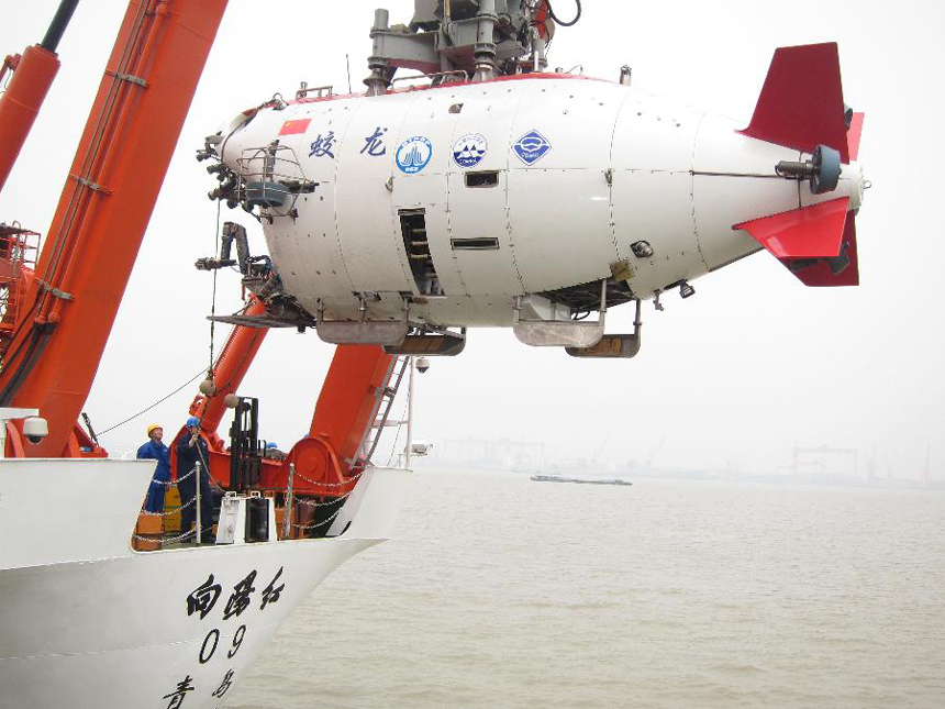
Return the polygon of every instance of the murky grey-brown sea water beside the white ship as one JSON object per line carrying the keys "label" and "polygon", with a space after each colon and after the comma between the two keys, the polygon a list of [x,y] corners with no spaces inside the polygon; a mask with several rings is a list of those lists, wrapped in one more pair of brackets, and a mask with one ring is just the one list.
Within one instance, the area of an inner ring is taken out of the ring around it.
{"label": "murky grey-brown sea water beside the white ship", "polygon": [[421,470],[224,706],[943,707],[945,492]]}

